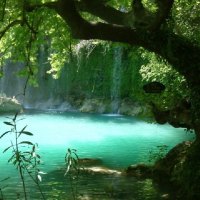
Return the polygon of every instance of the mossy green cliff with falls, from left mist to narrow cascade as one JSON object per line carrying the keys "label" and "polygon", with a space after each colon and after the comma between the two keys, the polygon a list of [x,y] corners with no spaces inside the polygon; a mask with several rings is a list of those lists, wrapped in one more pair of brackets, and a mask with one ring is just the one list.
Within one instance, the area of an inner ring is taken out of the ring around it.
{"label": "mossy green cliff with falls, from left mist to narrow cascade", "polygon": [[[75,108],[82,106],[87,98],[105,101],[106,112],[118,113],[122,74],[123,48],[112,46],[105,51],[105,45],[92,41],[82,41],[77,45],[71,60],[65,64],[58,79],[52,78],[48,62],[48,47],[41,45],[38,51],[38,86],[27,85],[27,77],[17,76],[24,70],[24,64],[8,61],[3,67],[4,76],[0,78],[0,93],[15,97],[24,108],[71,110],[70,102]],[[106,52],[106,53],[105,53]],[[74,103],[74,104],[73,104]],[[104,103],[104,102],[103,102]],[[110,108],[110,110],[109,110]]]}

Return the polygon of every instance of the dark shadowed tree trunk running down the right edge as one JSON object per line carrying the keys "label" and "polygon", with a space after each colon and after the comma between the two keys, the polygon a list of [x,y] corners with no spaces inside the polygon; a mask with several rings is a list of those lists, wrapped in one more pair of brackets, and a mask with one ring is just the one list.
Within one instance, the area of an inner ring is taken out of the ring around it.
{"label": "dark shadowed tree trunk running down the right edge", "polygon": [[175,180],[180,188],[180,197],[185,200],[200,199],[200,88],[197,85],[191,89],[192,123],[196,139],[187,152],[178,179]]}

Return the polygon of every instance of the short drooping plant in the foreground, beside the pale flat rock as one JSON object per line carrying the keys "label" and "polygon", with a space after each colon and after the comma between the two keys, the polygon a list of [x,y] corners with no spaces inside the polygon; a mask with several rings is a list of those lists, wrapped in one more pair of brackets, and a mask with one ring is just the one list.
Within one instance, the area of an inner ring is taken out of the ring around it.
{"label": "short drooping plant in the foreground, beside the pale flat rock", "polygon": [[77,181],[79,178],[80,167],[79,167],[79,157],[76,153],[76,149],[67,149],[67,153],[65,155],[65,164],[66,170],[64,176],[68,175],[71,192],[73,199],[77,199]]}

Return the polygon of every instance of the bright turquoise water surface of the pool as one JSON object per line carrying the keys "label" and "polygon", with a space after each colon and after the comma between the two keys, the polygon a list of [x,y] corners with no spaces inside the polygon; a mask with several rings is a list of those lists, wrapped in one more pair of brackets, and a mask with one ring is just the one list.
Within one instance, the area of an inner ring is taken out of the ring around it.
{"label": "bright turquoise water surface of the pool", "polygon": [[[194,135],[185,132],[184,129],[146,123],[133,117],[29,112],[20,115],[19,118],[23,118],[18,122],[19,128],[28,125],[27,130],[34,134],[22,140],[38,143],[39,154],[43,161],[41,169],[47,172],[46,177],[50,174],[61,177],[57,172],[64,167],[64,157],[68,148],[76,149],[80,158],[98,158],[102,160],[104,167],[123,169],[131,164],[147,162],[149,151],[156,150],[156,146],[167,145],[170,149],[181,141],[194,139]],[[8,130],[3,121],[8,121],[6,116],[0,117],[0,134]],[[10,140],[12,140],[10,135],[0,140],[0,152],[10,145]],[[13,191],[12,184],[18,179],[16,169],[7,163],[8,157],[9,152],[0,153],[0,180],[7,176],[12,177],[12,181],[6,183],[8,187],[5,191]],[[56,180],[56,177],[52,180]],[[45,179],[47,181],[48,178]],[[15,198],[11,195],[9,199]],[[61,197],[48,199],[61,199]]]}

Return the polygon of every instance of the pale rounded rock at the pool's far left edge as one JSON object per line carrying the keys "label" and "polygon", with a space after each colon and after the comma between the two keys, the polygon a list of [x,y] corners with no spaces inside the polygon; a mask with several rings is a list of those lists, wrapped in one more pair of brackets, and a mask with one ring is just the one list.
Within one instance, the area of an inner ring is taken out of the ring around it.
{"label": "pale rounded rock at the pool's far left edge", "polygon": [[15,98],[0,97],[0,113],[16,113],[20,111],[22,111],[22,106]]}

